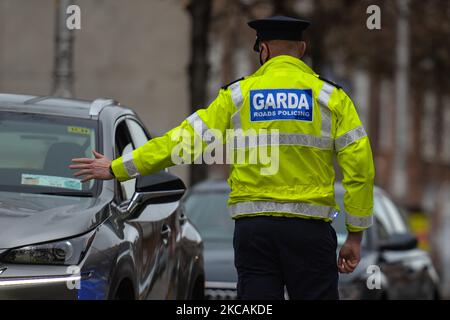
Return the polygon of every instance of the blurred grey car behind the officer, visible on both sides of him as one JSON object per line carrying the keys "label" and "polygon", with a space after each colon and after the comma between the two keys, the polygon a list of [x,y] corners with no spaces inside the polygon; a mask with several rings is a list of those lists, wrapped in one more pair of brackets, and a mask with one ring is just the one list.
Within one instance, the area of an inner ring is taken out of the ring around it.
{"label": "blurred grey car behind the officer, visible on both sides of him", "polygon": [[[184,199],[183,210],[197,226],[204,241],[208,299],[235,299],[237,274],[233,261],[234,222],[227,209],[225,181],[206,181]],[[343,208],[344,189],[335,186],[336,201]],[[333,221],[338,250],[347,235],[345,215]],[[427,252],[402,213],[380,188],[374,190],[374,225],[364,233],[361,262],[352,274],[340,274],[341,299],[437,299],[438,276]]]}

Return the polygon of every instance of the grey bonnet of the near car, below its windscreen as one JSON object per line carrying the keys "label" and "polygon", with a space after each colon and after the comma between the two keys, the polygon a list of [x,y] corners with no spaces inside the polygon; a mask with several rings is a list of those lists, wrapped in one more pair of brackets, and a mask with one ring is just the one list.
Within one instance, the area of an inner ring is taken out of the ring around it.
{"label": "grey bonnet of the near car, below its windscreen", "polygon": [[107,203],[101,197],[0,191],[0,245],[11,249],[83,234],[108,217]]}

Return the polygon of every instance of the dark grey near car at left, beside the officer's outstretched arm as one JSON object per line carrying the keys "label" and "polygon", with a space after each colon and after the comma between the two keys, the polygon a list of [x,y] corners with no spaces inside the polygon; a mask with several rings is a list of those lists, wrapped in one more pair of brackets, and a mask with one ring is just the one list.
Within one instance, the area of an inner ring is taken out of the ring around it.
{"label": "dark grey near car at left, beside the officer's outstretched arm", "polygon": [[0,94],[0,299],[203,297],[202,241],[181,213],[181,179],[82,184],[68,168],[150,138],[111,99]]}

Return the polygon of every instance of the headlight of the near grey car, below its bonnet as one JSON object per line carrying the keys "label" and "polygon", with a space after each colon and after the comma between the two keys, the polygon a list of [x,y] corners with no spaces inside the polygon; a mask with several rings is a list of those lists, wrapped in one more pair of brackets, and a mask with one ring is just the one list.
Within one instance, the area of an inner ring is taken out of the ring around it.
{"label": "headlight of the near grey car, below its bonnet", "polygon": [[95,231],[80,237],[12,249],[3,254],[0,261],[17,264],[78,264],[89,249]]}

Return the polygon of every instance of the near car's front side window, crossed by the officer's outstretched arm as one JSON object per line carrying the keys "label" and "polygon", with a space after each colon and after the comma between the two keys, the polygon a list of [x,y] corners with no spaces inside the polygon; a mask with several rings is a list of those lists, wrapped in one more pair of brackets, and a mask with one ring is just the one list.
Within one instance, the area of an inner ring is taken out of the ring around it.
{"label": "near car's front side window, crossed by the officer's outstretched arm", "polygon": [[[125,121],[118,124],[115,134],[116,156],[123,156],[134,150],[133,140]],[[134,194],[136,179],[119,183],[119,197],[121,201],[129,200]]]}

